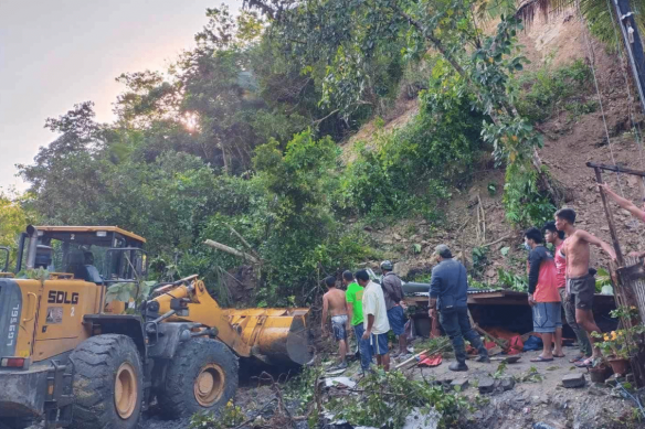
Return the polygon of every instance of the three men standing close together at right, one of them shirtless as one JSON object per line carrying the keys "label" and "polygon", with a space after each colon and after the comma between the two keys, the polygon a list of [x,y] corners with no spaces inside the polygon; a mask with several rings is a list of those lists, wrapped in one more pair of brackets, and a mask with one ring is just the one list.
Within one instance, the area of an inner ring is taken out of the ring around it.
{"label": "three men standing close together at right, one of them shirtless", "polygon": [[[547,250],[544,242],[553,245]],[[530,228],[525,233],[528,258],[529,305],[532,308],[533,331],[542,336],[542,353],[533,362],[552,362],[564,357],[562,352],[562,308],[567,323],[578,339],[580,354],[570,362],[591,366],[601,351],[592,344],[593,333],[601,333],[592,312],[595,293],[595,269],[590,268],[590,245],[600,247],[612,259],[612,246],[594,235],[575,227],[575,212],[562,208],[556,221],[542,230]],[[554,346],[554,347],[553,347]],[[553,350],[554,348],[554,350]]]}

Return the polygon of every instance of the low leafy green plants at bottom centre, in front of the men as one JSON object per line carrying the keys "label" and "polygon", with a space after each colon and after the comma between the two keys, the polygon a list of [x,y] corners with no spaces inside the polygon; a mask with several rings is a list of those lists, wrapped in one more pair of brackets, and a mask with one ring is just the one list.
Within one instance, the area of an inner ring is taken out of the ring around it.
{"label": "low leafy green plants at bottom centre, in front of the men", "polygon": [[459,414],[469,409],[466,398],[446,393],[441,386],[430,386],[405,377],[401,372],[377,371],[359,383],[359,395],[332,398],[328,408],[339,419],[355,426],[380,427],[389,421],[394,428],[403,427],[412,408],[421,408],[430,416],[434,408],[440,415],[440,427],[454,427]]}

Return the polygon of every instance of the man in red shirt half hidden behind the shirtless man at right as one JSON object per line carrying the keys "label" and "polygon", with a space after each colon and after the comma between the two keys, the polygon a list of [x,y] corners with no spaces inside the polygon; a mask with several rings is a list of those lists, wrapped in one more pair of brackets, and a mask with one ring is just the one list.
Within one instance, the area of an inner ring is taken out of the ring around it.
{"label": "man in red shirt half hidden behind the shirtless man at right", "polygon": [[[573,304],[567,300],[567,258],[560,251],[562,245],[564,244],[564,232],[558,230],[556,227],[556,222],[548,222],[544,227],[544,239],[547,243],[553,245],[556,251],[553,255],[553,260],[556,262],[556,283],[558,285],[558,292],[560,293],[560,300],[562,301],[562,307],[564,308],[564,318],[567,323],[573,330],[575,337],[578,339],[578,345],[580,346],[580,353],[570,358],[569,362],[572,364],[584,361],[586,357],[591,356],[591,343],[589,342],[589,336],[586,331],[575,323],[575,309]],[[562,331],[560,331],[560,341],[562,340]],[[556,331],[556,344],[558,344],[558,332]]]}

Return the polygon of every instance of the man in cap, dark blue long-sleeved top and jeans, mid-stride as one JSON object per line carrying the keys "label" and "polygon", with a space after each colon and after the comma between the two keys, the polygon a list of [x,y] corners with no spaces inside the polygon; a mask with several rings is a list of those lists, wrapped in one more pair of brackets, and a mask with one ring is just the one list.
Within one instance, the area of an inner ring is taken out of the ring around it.
{"label": "man in cap, dark blue long-sleeved top and jeans, mid-stride", "polygon": [[438,309],[441,325],[453,342],[457,362],[451,364],[448,368],[468,371],[464,339],[479,352],[477,362],[490,362],[488,351],[468,320],[468,275],[466,268],[453,259],[446,245],[436,246],[434,253],[437,255],[438,265],[432,269],[429,314],[435,318]]}

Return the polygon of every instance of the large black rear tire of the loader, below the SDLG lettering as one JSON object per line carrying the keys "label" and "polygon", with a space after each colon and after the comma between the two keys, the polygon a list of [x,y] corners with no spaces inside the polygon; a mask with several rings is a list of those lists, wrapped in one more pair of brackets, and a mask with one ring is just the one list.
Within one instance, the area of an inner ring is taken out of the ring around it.
{"label": "large black rear tire of the loader, below the SDLG lettering", "polygon": [[141,414],[141,357],[127,335],[105,334],[81,343],[74,363],[73,429],[134,429]]}

